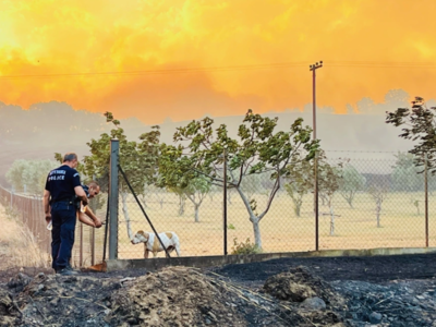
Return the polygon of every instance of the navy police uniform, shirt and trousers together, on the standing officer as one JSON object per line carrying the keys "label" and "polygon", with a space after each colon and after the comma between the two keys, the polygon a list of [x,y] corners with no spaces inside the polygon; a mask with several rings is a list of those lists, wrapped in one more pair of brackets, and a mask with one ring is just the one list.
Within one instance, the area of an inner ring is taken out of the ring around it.
{"label": "navy police uniform, shirt and trousers together, on the standing officer", "polygon": [[51,170],[48,174],[46,190],[51,195],[51,256],[52,268],[56,271],[69,267],[74,245],[76,186],[81,186],[78,172],[66,165]]}

